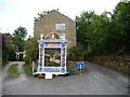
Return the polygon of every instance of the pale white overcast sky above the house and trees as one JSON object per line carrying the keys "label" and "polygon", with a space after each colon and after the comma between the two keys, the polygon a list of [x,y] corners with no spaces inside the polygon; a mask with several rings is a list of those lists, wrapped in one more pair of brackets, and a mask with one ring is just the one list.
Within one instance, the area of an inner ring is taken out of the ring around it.
{"label": "pale white overcast sky above the house and trees", "polygon": [[34,33],[34,17],[38,12],[60,9],[66,16],[75,19],[82,11],[113,11],[120,0],[0,0],[0,31],[13,33],[26,27],[28,36]]}

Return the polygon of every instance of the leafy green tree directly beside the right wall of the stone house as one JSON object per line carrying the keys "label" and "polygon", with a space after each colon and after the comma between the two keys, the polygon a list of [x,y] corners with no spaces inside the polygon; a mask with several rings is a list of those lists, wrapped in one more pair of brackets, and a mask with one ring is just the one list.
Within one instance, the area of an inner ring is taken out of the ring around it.
{"label": "leafy green tree directly beside the right wall of the stone house", "polygon": [[94,12],[82,12],[77,22],[77,42],[82,44],[87,53],[104,53],[105,33],[109,18],[106,14],[96,15]]}

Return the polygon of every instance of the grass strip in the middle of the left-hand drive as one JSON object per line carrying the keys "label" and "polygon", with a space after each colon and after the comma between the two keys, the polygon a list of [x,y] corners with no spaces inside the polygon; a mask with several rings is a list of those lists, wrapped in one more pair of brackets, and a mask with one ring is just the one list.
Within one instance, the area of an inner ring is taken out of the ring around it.
{"label": "grass strip in the middle of the left-hand drive", "polygon": [[18,65],[15,64],[15,65],[12,65],[12,66],[9,68],[8,73],[9,73],[9,77],[10,77],[10,78],[17,78],[17,77],[18,77],[17,66],[18,66]]}

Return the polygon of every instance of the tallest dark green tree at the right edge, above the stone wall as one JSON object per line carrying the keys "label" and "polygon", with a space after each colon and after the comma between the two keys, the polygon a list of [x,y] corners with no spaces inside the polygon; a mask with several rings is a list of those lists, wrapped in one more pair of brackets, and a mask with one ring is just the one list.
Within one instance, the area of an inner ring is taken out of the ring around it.
{"label": "tallest dark green tree at the right edge, above the stone wall", "polygon": [[112,14],[105,34],[105,46],[112,54],[130,54],[130,2],[119,2]]}

